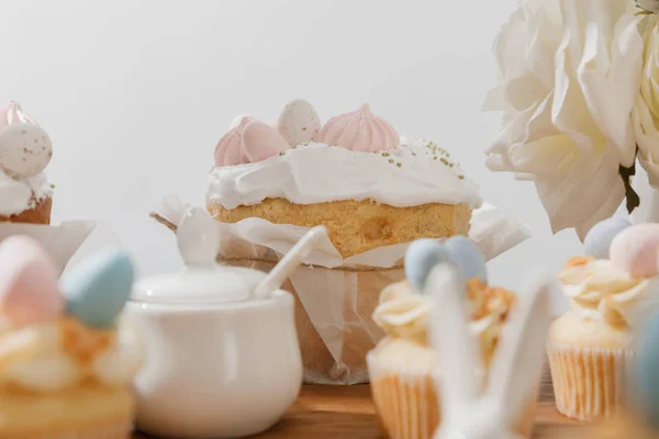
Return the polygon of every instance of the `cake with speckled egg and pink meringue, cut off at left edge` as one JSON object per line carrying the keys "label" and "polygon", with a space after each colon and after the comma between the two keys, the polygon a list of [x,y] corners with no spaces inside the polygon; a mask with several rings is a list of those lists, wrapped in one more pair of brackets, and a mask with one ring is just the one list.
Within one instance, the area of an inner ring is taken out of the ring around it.
{"label": "cake with speckled egg and pink meringue, cut off at left edge", "polygon": [[0,222],[51,223],[52,156],[51,138],[16,102],[0,108]]}

